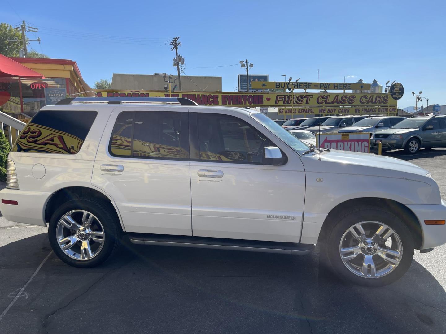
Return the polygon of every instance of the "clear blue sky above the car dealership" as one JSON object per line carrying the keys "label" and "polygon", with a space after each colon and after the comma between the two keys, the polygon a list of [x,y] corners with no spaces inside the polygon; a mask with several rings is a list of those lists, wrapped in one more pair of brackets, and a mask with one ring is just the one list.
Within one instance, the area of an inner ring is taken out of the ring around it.
{"label": "clear blue sky above the car dealership", "polygon": [[248,58],[251,73],[270,81],[281,74],[317,81],[318,69],[321,82],[396,80],[405,87],[398,103],[404,108],[415,105],[410,92],[420,90],[429,104],[446,104],[445,11],[442,0],[3,0],[0,22],[32,23],[40,30],[28,37],[40,37],[41,45],[31,47],[76,61],[91,86],[113,73],[176,73],[164,43],[180,36],[185,73],[221,76],[223,90],[237,86],[240,65],[197,67]]}

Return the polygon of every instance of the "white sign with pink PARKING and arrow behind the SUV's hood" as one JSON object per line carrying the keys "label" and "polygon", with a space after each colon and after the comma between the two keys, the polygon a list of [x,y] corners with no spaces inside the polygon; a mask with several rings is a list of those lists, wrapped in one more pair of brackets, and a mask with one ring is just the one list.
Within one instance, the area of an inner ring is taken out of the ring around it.
{"label": "white sign with pink PARKING and arrow behind the SUV's hood", "polygon": [[370,134],[368,132],[316,134],[316,146],[330,150],[369,153]]}

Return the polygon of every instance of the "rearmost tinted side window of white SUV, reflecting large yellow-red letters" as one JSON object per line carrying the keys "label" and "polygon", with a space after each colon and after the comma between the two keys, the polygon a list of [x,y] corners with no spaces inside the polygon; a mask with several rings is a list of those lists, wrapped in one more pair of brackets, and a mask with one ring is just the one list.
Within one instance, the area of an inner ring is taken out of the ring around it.
{"label": "rearmost tinted side window of white SUV, reflecting large yellow-red letters", "polygon": [[25,126],[12,151],[76,154],[97,114],[96,111],[41,110]]}

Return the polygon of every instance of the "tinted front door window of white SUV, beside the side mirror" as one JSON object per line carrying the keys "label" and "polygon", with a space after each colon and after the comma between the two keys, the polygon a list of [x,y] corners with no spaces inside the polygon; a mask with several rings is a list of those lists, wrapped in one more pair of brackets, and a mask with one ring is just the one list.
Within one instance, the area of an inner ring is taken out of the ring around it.
{"label": "tinted front door window of white SUV, beside the side mirror", "polygon": [[262,163],[266,136],[240,118],[223,114],[197,114],[200,160]]}

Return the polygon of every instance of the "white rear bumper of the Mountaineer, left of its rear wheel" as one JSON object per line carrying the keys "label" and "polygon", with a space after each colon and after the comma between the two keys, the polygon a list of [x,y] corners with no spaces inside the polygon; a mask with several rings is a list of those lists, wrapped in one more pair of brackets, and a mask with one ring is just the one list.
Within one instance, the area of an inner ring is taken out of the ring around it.
{"label": "white rear bumper of the Mountaineer, left of its rear wheel", "polygon": [[[0,211],[10,221],[46,226],[45,203],[50,192],[3,189],[0,191]],[[18,205],[2,204],[1,200],[15,200]]]}

